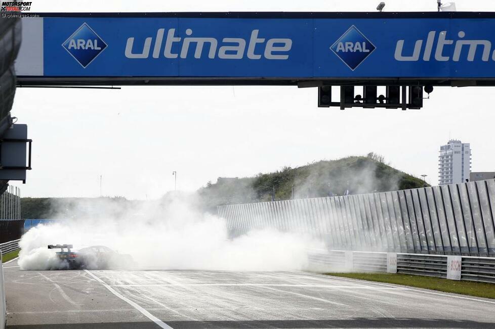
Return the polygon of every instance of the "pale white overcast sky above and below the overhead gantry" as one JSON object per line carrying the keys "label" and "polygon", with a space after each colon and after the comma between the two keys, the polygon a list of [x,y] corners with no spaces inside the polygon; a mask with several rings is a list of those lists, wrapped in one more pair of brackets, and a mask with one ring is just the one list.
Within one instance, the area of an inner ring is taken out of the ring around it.
{"label": "pale white overcast sky above and below the overhead gantry", "polygon": [[[374,11],[379,1],[48,1],[36,12]],[[459,0],[458,11],[495,11]],[[386,1],[386,11],[435,11],[435,0]],[[437,184],[450,138],[471,143],[473,171],[495,170],[493,88],[435,88],[422,110],[319,109],[297,87],[19,88],[12,115],[29,126],[33,170],[23,196],[157,198],[218,176],[252,176],[321,159],[382,154]]]}

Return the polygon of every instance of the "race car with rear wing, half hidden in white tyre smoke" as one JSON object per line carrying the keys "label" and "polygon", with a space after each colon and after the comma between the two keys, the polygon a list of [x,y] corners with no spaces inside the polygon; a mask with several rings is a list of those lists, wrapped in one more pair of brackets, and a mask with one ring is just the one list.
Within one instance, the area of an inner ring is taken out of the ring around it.
{"label": "race car with rear wing, half hidden in white tyre smoke", "polygon": [[[72,251],[72,245],[49,245],[48,249],[61,249],[57,257],[62,261],[62,268],[68,269],[107,269],[130,268],[134,266],[131,255],[119,254],[105,246],[91,246]],[[64,249],[67,249],[65,251]]]}

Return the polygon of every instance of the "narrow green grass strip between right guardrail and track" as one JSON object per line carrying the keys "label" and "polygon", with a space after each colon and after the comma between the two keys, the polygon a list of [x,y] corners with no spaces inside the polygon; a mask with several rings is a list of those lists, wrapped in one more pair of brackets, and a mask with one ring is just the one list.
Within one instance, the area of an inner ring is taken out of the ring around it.
{"label": "narrow green grass strip between right guardrail and track", "polygon": [[495,284],[482,282],[447,280],[439,277],[409,275],[409,274],[382,274],[382,273],[325,273],[326,275],[348,277],[353,279],[376,281],[387,284],[403,285],[455,293],[475,297],[495,299]]}

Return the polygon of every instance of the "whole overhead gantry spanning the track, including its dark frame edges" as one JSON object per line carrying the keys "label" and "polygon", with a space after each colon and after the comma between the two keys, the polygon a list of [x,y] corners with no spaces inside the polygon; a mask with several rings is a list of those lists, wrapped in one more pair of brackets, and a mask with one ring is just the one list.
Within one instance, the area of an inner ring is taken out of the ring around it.
{"label": "whole overhead gantry spanning the track, including its dark frame edges", "polygon": [[35,15],[19,86],[495,85],[493,12]]}

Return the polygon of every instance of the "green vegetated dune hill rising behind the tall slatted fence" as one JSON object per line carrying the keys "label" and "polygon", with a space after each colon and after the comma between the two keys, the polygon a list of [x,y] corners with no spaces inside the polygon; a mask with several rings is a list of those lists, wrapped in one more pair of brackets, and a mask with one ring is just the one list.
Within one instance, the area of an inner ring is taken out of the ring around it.
{"label": "green vegetated dune hill rising behind the tall slatted fence", "polygon": [[255,177],[222,180],[209,183],[199,190],[206,205],[271,201],[273,187],[276,200],[326,197],[415,189],[425,186],[417,177],[399,171],[383,162],[374,153],[367,157],[348,157],[333,161],[318,161],[305,166],[260,173]]}

